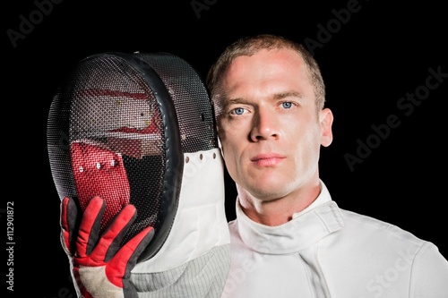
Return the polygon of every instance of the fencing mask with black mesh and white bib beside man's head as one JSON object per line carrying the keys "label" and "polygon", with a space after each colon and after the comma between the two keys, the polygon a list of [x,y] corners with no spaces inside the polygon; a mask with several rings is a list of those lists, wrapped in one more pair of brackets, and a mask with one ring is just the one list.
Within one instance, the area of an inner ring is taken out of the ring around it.
{"label": "fencing mask with black mesh and white bib beside man's head", "polygon": [[56,191],[83,210],[106,201],[101,228],[137,209],[124,243],[147,226],[133,270],[141,297],[220,297],[229,267],[223,161],[197,72],[168,53],[104,53],[75,65],[47,122]]}

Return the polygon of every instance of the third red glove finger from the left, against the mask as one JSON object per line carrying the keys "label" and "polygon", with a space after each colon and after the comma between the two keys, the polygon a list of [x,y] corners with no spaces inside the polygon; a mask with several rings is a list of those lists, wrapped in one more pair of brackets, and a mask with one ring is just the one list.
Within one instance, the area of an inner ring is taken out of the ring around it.
{"label": "third red glove finger from the left, against the mask", "polygon": [[136,217],[136,209],[134,205],[127,204],[116,214],[101,238],[97,247],[92,251],[90,257],[97,260],[105,260],[106,262],[112,258],[116,251],[120,249],[120,243],[125,237],[125,233],[131,226]]}

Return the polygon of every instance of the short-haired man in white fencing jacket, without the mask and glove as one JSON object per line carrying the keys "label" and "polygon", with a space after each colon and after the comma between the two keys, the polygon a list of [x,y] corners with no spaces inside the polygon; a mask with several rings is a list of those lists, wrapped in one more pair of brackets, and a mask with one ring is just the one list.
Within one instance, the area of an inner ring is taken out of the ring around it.
{"label": "short-haired man in white fencing jacket, without the mask and glove", "polygon": [[223,297],[448,297],[448,262],[433,243],[332,200],[318,161],[333,115],[304,47],[241,38],[207,85],[237,185]]}

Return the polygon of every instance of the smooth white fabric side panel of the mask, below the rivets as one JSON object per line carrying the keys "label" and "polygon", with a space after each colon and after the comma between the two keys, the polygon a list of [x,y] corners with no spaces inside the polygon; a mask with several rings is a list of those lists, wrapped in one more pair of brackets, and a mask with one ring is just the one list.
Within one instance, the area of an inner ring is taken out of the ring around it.
{"label": "smooth white fabric side panel of the mask, below the rivets", "polygon": [[220,149],[185,153],[184,158],[179,205],[168,239],[153,258],[138,263],[132,273],[177,268],[230,242]]}

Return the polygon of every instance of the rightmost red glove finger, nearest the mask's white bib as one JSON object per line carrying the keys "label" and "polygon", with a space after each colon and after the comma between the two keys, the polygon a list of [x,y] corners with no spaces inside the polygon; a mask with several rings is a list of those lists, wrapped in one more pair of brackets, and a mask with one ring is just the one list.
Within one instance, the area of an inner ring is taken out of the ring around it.
{"label": "rightmost red glove finger, nearest the mask's white bib", "polygon": [[154,236],[154,228],[148,226],[139,234],[136,234],[116,253],[108,262],[106,275],[109,281],[119,287],[124,287],[123,282],[130,276],[136,261],[142,251],[151,243]]}

